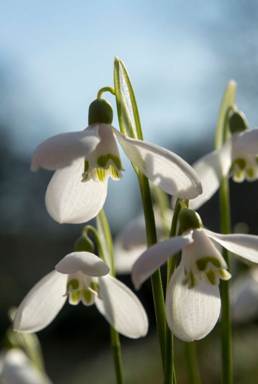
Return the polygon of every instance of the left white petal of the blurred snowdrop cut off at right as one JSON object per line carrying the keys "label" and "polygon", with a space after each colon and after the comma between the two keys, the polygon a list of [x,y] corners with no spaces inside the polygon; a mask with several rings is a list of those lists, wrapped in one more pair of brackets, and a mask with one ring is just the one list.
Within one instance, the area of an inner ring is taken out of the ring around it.
{"label": "left white petal of the blurred snowdrop cut off at right", "polygon": [[219,188],[222,177],[227,175],[231,165],[231,147],[229,139],[219,150],[208,153],[192,164],[200,179],[202,194],[189,201],[190,209],[198,209]]}

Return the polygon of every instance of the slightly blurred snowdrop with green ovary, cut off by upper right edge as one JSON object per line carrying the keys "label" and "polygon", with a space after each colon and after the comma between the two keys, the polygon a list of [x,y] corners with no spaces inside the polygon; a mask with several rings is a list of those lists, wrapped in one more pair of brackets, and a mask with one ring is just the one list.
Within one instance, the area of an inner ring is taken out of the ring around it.
{"label": "slightly blurred snowdrop with green ovary, cut off by upper right edge", "polygon": [[191,209],[197,209],[209,200],[227,175],[237,183],[254,181],[258,177],[258,129],[248,131],[246,118],[239,111],[231,115],[229,127],[232,135],[225,144],[192,164],[203,192],[190,200]]}

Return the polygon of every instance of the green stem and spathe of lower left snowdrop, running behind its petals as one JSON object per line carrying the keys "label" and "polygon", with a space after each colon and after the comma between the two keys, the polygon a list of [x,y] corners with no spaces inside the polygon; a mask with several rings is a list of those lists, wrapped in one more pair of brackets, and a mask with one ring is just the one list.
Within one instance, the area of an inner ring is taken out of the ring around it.
{"label": "green stem and spathe of lower left snowdrop, running behind its petals", "polygon": [[[113,242],[110,232],[110,228],[104,213],[104,210],[98,213],[96,217],[97,230],[99,232],[99,240],[101,243],[101,252],[104,255],[108,255],[108,260],[110,263],[110,274],[115,276],[114,269],[114,254],[113,254]],[[110,326],[110,340],[111,340],[111,349],[113,354],[114,370],[116,377],[116,384],[124,384],[123,372],[122,372],[122,356],[121,356],[121,344],[119,339],[119,334]]]}

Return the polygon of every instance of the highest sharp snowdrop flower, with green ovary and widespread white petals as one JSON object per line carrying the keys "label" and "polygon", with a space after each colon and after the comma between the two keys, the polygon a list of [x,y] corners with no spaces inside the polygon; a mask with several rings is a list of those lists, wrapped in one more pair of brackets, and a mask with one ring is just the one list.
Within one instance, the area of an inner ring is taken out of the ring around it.
{"label": "highest sharp snowdrop flower, with green ovary and widespread white petals", "polygon": [[184,160],[157,145],[122,135],[111,126],[112,116],[111,105],[96,99],[89,106],[89,126],[84,131],[53,136],[36,148],[31,170],[55,170],[45,204],[57,222],[86,222],[100,211],[108,177],[122,177],[115,137],[131,162],[163,191],[182,199],[201,193],[195,171]]}

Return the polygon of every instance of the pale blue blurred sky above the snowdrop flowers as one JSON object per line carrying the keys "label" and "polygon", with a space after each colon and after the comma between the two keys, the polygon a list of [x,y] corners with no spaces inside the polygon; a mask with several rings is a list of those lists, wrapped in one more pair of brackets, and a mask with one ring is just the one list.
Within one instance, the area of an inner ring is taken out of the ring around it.
{"label": "pale blue blurred sky above the snowdrop flowers", "polygon": [[231,78],[254,127],[257,14],[254,0],[1,2],[0,118],[13,148],[30,156],[49,135],[83,129],[98,89],[113,85],[114,56],[131,77],[146,140],[171,150],[212,142]]}

